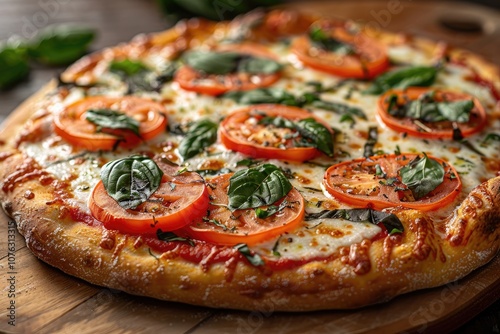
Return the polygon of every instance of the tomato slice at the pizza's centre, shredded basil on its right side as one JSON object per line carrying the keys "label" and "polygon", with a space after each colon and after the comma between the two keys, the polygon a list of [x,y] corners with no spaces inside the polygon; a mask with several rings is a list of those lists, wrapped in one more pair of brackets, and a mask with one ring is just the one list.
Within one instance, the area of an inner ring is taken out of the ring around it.
{"label": "tomato slice at the pizza's centre, shredded basil on its right side", "polygon": [[299,140],[300,136],[294,130],[259,124],[266,116],[279,116],[291,121],[314,118],[333,135],[328,124],[304,109],[259,104],[240,109],[226,117],[219,127],[220,140],[228,149],[254,158],[306,161],[322,154],[315,147],[296,147],[294,141]]}

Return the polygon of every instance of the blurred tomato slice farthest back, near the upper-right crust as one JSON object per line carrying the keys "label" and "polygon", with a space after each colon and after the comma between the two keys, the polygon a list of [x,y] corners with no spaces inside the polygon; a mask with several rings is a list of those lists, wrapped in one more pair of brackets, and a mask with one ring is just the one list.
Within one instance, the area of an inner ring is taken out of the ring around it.
{"label": "blurred tomato slice farthest back, near the upper-right crust", "polygon": [[385,47],[364,33],[352,32],[345,25],[329,22],[314,24],[336,40],[350,45],[355,53],[342,54],[314,46],[309,36],[297,37],[292,52],[306,66],[343,78],[370,79],[389,67]]}

